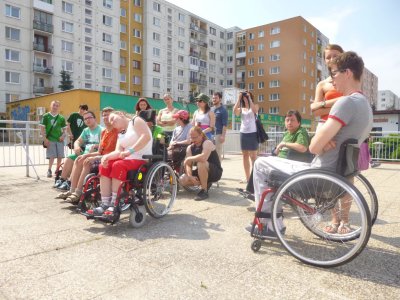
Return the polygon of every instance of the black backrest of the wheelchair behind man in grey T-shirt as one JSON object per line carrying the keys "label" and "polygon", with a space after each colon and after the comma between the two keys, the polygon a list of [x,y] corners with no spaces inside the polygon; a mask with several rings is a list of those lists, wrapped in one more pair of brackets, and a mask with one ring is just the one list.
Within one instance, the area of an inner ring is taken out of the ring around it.
{"label": "black backrest of the wheelchair behind man in grey T-shirt", "polygon": [[339,149],[339,157],[336,165],[336,173],[348,177],[358,172],[358,155],[360,148],[357,139],[347,139]]}

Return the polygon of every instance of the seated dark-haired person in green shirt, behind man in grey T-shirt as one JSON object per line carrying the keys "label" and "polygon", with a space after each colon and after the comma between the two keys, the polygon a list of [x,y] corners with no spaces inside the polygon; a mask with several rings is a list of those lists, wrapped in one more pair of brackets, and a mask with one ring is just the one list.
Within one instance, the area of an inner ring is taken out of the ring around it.
{"label": "seated dark-haired person in green shirt, behind man in grey T-shirt", "polygon": [[[308,157],[306,154],[309,145],[309,137],[307,130],[301,127],[301,115],[297,110],[289,110],[285,116],[286,131],[283,135],[282,142],[274,149],[273,155],[280,158],[304,161]],[[288,156],[288,154],[290,154]],[[246,192],[239,189],[247,198],[254,200],[253,171],[251,171],[249,182],[246,186]]]}

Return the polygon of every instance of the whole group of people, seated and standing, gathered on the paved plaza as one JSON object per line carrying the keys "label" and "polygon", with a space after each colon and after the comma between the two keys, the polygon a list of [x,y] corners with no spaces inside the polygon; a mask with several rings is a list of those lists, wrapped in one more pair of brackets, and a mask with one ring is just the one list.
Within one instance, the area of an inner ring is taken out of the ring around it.
{"label": "whole group of people, seated and standing, gathered on the paved plaza", "polygon": [[[242,193],[255,200],[256,207],[262,192],[268,188],[271,170],[294,174],[308,168],[335,170],[339,146],[348,138],[357,138],[359,144],[371,130],[372,112],[368,100],[362,94],[361,76],[364,64],[355,52],[344,52],[338,45],[328,45],[324,59],[330,76],[316,88],[311,110],[320,116],[317,131],[312,139],[301,126],[301,115],[290,110],[285,115],[286,132],[276,145],[271,156],[259,157],[256,118],[259,107],[253,94],[243,91],[233,106],[233,113],[241,117],[240,146],[243,169],[247,183]],[[225,142],[228,113],[222,105],[222,94],[210,97],[201,93],[195,100],[198,109],[192,119],[185,110],[173,106],[170,94],[163,97],[165,108],[156,115],[145,98],[136,104],[134,115],[115,111],[111,107],[102,110],[105,128],[96,120],[87,105],[72,114],[67,122],[59,114],[60,103],[53,101],[50,112],[41,121],[44,145],[49,159],[48,176],[52,176],[52,165],[57,158],[57,167],[64,156],[64,139],[69,135],[73,153],[64,159],[64,167],[55,187],[66,190],[60,198],[76,203],[82,194],[85,176],[98,167],[100,174],[101,206],[92,213],[112,213],[117,190],[129,170],[138,169],[146,162],[143,155],[155,152],[155,141],[166,144],[168,157],[180,161],[183,174],[179,178],[182,186],[199,186],[195,200],[209,197],[213,182],[222,177],[222,145]],[[212,106],[210,106],[212,104]],[[362,118],[359,116],[363,116]],[[162,138],[161,138],[162,137]],[[310,158],[312,161],[310,162]],[[270,213],[271,199],[264,202],[263,212]],[[270,220],[265,223],[261,235],[274,234]],[[284,229],[282,226],[280,229]],[[332,211],[332,221],[326,227],[329,233],[346,233],[351,230],[349,216]]]}

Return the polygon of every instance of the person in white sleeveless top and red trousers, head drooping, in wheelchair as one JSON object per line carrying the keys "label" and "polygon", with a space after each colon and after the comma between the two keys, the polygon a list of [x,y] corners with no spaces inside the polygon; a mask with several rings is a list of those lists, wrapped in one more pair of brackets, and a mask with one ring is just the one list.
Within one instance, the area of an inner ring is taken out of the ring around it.
{"label": "person in white sleeveless top and red trousers, head drooping, in wheelchair", "polygon": [[88,210],[88,214],[114,213],[114,203],[122,181],[128,171],[138,170],[147,160],[143,155],[152,154],[153,138],[146,122],[140,117],[131,119],[127,114],[113,111],[110,124],[119,132],[115,151],[103,155],[99,166],[101,206]]}

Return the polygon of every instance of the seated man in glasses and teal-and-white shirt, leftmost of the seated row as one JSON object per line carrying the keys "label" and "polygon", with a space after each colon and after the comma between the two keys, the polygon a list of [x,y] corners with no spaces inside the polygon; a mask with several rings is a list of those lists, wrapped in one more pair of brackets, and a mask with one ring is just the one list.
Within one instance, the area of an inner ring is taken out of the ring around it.
{"label": "seated man in glasses and teal-and-white shirt, leftmost of the seated row", "polygon": [[[67,181],[67,179],[71,175],[75,159],[81,154],[95,152],[99,147],[100,135],[103,128],[97,124],[96,116],[92,111],[87,111],[83,115],[83,120],[87,127],[82,131],[79,138],[75,141],[73,149],[74,153],[68,155],[68,157],[64,160],[64,167],[61,172],[61,177],[54,185],[54,187],[61,190],[67,191],[70,189],[70,183]],[[83,146],[85,147],[85,150],[82,152]],[[58,197],[60,196],[61,194],[58,195]]]}

